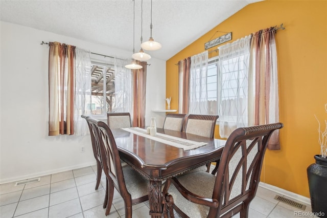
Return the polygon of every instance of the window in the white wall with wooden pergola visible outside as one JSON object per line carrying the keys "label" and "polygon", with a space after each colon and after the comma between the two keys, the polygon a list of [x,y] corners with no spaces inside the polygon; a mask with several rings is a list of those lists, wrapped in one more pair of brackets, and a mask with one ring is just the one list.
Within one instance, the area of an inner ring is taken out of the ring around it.
{"label": "window in the white wall with wooden pergola visible outside", "polygon": [[86,114],[106,117],[114,106],[114,67],[91,62],[91,98],[86,102]]}

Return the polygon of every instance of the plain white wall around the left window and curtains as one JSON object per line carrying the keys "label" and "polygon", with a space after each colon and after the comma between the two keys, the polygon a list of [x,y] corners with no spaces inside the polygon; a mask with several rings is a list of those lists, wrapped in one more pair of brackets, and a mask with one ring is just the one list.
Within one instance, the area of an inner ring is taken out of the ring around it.
{"label": "plain white wall around the left window and curtains", "polygon": [[[49,46],[40,45],[41,41],[59,41],[119,58],[131,56],[130,51],[1,21],[0,183],[95,164],[89,135],[48,136]],[[165,107],[166,62],[152,58],[148,63],[146,124],[155,116],[162,126],[165,114],[151,109]]]}

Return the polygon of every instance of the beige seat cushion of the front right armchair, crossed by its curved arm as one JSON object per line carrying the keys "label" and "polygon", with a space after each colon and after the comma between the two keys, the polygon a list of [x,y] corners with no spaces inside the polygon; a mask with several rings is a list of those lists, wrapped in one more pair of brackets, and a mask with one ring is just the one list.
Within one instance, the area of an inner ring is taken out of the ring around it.
{"label": "beige seat cushion of the front right armchair, crossed by its curved arm", "polygon": [[[178,181],[189,191],[205,198],[212,198],[216,177],[205,171],[187,173],[177,178]],[[174,199],[174,204],[190,217],[207,217],[209,207],[195,204],[186,200],[171,184],[168,190]]]}

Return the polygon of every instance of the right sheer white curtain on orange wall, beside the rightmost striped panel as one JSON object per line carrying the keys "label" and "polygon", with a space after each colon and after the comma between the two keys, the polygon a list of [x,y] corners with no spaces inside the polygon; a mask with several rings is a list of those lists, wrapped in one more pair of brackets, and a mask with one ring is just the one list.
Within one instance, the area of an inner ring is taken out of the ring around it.
{"label": "right sheer white curtain on orange wall, beside the rightmost striped panel", "polygon": [[253,93],[248,85],[250,40],[251,35],[218,47],[219,132],[223,138],[238,127],[248,126],[248,94]]}

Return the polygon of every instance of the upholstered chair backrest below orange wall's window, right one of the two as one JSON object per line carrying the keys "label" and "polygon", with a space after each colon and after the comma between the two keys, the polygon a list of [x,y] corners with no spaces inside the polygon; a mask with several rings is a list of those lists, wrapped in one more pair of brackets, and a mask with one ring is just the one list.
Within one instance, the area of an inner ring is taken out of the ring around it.
{"label": "upholstered chair backrest below orange wall's window, right one of the two", "polygon": [[186,121],[185,133],[214,138],[218,115],[190,114]]}

